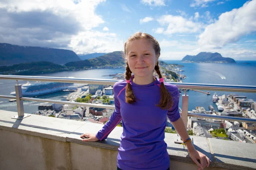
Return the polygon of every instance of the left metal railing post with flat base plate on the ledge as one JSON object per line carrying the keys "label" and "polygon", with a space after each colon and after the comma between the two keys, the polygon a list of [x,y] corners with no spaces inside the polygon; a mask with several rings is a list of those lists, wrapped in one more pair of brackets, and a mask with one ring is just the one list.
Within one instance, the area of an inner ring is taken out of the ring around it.
{"label": "left metal railing post with flat base plate on the ledge", "polygon": [[17,112],[18,115],[17,116],[13,116],[13,119],[23,119],[25,117],[28,117],[30,115],[28,114],[24,114],[24,106],[23,106],[23,101],[20,100],[20,98],[22,97],[22,89],[21,89],[22,85],[15,85],[15,93],[16,93],[16,102],[17,102]]}

